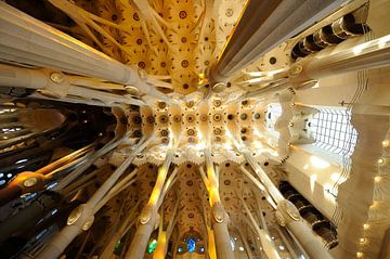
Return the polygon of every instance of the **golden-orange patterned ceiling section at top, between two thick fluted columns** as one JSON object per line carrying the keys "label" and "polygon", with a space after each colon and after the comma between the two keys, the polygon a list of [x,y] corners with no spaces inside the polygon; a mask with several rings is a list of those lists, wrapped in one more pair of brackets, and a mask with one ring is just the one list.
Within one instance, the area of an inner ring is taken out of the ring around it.
{"label": "golden-orange patterned ceiling section at top, between two thick fluted columns", "polygon": [[208,73],[221,53],[245,1],[98,0],[75,3],[117,25],[100,25],[108,38],[96,34],[93,40],[79,31],[80,28],[76,37],[125,64],[162,78],[174,92],[188,94],[197,90],[202,75]]}

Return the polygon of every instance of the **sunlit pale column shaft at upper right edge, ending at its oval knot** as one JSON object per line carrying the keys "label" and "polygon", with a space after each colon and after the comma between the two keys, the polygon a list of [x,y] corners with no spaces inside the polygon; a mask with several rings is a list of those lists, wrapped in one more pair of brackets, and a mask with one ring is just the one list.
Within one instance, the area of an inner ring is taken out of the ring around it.
{"label": "sunlit pale column shaft at upper right edge, ending at its oval knot", "polygon": [[332,75],[390,66],[390,36],[322,57],[302,59],[289,70],[291,82],[302,82]]}

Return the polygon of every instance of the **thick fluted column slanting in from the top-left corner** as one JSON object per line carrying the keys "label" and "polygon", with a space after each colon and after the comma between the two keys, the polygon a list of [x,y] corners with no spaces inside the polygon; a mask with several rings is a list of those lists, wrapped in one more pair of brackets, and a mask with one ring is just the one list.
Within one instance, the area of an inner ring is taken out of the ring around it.
{"label": "thick fluted column slanting in from the top-left corner", "polygon": [[3,1],[0,1],[0,34],[1,60],[131,85],[170,102],[148,83],[145,72],[123,65]]}

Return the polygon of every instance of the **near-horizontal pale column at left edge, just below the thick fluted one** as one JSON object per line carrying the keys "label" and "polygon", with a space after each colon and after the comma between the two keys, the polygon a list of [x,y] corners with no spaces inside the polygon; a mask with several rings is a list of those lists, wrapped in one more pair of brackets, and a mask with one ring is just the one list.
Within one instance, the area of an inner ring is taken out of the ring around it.
{"label": "near-horizontal pale column at left edge, just below the thick fluted one", "polygon": [[[65,102],[100,106],[118,105],[118,103],[144,104],[142,101],[133,99],[134,95],[139,94],[138,89],[102,82],[96,78],[74,77],[55,70],[22,68],[1,64],[0,69],[3,72],[0,75],[1,87],[35,89],[39,94],[34,93],[32,95],[37,98],[46,96],[54,100],[61,99],[61,101]],[[128,91],[132,94],[119,95],[100,91],[113,89]]]}

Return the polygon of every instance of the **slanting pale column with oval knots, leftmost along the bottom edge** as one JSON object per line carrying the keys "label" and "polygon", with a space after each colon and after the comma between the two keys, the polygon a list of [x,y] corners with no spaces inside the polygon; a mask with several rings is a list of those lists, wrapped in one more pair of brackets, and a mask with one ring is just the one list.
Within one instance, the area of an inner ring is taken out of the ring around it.
{"label": "slanting pale column with oval knots, leftmost along the bottom edge", "polygon": [[[115,172],[103,183],[101,187],[92,195],[87,202],[77,207],[67,219],[67,225],[54,236],[53,239],[43,248],[38,255],[39,259],[57,258],[64,251],[64,249],[70,244],[70,242],[81,234],[82,231],[89,230],[93,224],[94,215],[103,207],[105,202],[108,202],[107,197],[113,197],[117,194],[122,186],[127,186],[130,179],[135,177],[136,171],[133,171],[126,177],[125,182],[120,181],[118,185],[114,186],[120,176],[130,166],[134,157],[150,143],[152,138],[147,141],[141,140],[136,148],[129,155],[129,157],[115,170]],[[114,187],[113,187],[114,186]],[[113,190],[116,189],[114,192]],[[104,200],[102,203],[102,200]]]}

